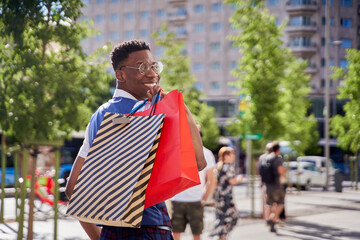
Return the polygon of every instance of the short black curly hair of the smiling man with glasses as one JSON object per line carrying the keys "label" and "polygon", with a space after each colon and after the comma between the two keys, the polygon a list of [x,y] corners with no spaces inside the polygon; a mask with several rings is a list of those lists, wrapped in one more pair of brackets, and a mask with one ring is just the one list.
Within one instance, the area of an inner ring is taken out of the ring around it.
{"label": "short black curly hair of the smiling man with glasses", "polygon": [[120,62],[129,57],[130,53],[140,50],[150,50],[149,44],[142,40],[134,39],[116,45],[110,54],[111,65],[113,66],[114,71],[116,71]]}

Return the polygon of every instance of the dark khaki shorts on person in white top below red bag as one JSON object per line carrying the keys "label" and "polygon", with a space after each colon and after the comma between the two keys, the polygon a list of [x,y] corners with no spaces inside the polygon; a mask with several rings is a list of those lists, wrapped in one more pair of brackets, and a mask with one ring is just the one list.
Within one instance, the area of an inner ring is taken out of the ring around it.
{"label": "dark khaki shorts on person in white top below red bag", "polygon": [[171,224],[173,232],[184,232],[186,224],[190,224],[191,232],[200,235],[204,228],[204,208],[200,202],[172,201]]}

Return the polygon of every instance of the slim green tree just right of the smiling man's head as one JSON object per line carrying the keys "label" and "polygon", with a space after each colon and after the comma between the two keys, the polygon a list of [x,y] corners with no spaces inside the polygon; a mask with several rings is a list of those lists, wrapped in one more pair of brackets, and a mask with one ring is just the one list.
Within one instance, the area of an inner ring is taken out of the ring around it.
{"label": "slim green tree just right of the smiling man's head", "polygon": [[[161,34],[163,32],[164,34]],[[164,65],[161,73],[161,86],[165,91],[178,89],[183,93],[184,102],[195,120],[201,125],[204,145],[210,149],[218,147],[219,127],[215,119],[215,109],[200,102],[201,93],[194,88],[195,78],[190,73],[190,58],[184,54],[184,42],[176,39],[173,32],[168,32],[167,25],[155,32],[156,44],[164,49],[160,59]]]}

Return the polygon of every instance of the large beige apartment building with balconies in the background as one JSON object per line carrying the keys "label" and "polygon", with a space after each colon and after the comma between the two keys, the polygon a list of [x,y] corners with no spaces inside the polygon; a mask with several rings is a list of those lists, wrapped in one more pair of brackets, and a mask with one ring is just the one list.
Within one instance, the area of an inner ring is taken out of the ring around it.
{"label": "large beige apartment building with balconies in the background", "polygon": [[[331,4],[330,65],[346,67],[347,48],[359,48],[360,0],[328,0]],[[171,31],[186,42],[195,87],[205,93],[206,100],[217,109],[220,124],[238,113],[237,89],[229,85],[236,78],[230,71],[240,58],[238,49],[226,38],[234,35],[229,18],[234,9],[221,0],[84,0],[84,18],[92,19],[101,31],[83,41],[91,52],[108,41],[114,44],[133,38],[150,43],[153,53],[161,58],[163,49],[155,46],[151,34],[167,22]],[[293,54],[307,59],[311,74],[313,111],[323,129],[323,96],[325,89],[325,6],[326,0],[265,0],[277,24],[285,21],[283,41]],[[330,83],[331,112],[341,112],[336,101],[337,86]]]}

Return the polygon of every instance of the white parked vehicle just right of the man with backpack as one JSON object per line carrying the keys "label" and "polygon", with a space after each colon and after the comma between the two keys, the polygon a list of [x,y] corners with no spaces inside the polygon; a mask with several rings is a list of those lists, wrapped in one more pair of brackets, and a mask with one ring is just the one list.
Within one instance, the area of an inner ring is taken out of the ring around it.
{"label": "white parked vehicle just right of the man with backpack", "polygon": [[320,171],[315,164],[303,161],[288,164],[287,181],[290,185],[296,187],[299,184],[303,190],[326,186],[326,172]]}

